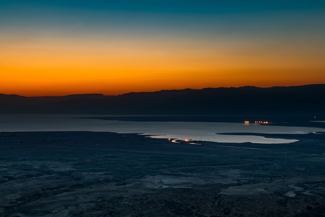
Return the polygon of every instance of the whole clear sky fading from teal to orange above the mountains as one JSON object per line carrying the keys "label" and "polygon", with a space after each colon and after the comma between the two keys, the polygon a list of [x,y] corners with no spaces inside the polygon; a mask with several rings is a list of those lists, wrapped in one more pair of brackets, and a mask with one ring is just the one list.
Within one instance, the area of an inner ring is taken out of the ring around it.
{"label": "whole clear sky fading from teal to orange above the mountains", "polygon": [[0,93],[325,83],[323,0],[1,0]]}

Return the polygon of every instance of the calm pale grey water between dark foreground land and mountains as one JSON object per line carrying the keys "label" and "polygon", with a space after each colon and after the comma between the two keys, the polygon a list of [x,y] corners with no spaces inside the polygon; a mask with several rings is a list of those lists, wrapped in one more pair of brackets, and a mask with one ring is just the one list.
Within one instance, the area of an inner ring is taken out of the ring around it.
{"label": "calm pale grey water between dark foreground land and mountains", "polygon": [[[297,140],[262,136],[218,135],[216,133],[290,133],[325,131],[321,128],[261,126],[243,123],[212,122],[130,122],[116,120],[77,119],[73,117],[110,115],[14,115],[0,114],[0,131],[108,131],[141,133],[155,138],[192,139],[212,142],[289,143]],[[202,139],[201,139],[202,138]]]}

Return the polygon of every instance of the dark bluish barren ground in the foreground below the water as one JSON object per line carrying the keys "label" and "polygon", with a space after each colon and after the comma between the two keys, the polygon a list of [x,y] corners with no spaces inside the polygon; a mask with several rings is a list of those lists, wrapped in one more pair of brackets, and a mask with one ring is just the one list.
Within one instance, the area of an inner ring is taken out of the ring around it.
{"label": "dark bluish barren ground in the foreground below the water", "polygon": [[0,132],[0,216],[325,216],[325,134],[281,136],[301,141]]}

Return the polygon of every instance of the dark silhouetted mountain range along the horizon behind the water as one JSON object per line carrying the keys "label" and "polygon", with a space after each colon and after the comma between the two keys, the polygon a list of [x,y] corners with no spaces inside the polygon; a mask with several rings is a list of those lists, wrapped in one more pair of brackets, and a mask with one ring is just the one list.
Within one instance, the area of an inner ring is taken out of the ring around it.
{"label": "dark silhouetted mountain range along the horizon behind the water", "polygon": [[324,115],[325,84],[24,97],[0,94],[2,114]]}

